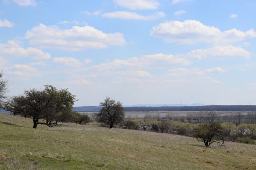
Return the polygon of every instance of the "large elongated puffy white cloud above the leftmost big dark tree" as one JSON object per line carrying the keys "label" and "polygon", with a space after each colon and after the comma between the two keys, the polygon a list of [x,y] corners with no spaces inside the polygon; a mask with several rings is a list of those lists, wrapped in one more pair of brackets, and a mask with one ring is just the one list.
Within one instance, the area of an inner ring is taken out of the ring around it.
{"label": "large elongated puffy white cloud above the leftmost big dark tree", "polygon": [[73,26],[60,29],[57,26],[39,24],[26,32],[29,44],[40,48],[52,48],[67,51],[80,51],[86,48],[107,48],[110,45],[124,45],[121,33],[103,33],[91,26]]}

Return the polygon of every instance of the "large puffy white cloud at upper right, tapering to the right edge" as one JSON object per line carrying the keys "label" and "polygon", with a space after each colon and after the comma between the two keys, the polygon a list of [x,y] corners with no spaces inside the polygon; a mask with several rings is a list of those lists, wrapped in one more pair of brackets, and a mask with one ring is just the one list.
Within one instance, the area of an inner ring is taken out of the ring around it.
{"label": "large puffy white cloud at upper right, tapering to the right edge", "polygon": [[152,28],[150,35],[182,44],[195,44],[197,42],[229,44],[242,41],[246,38],[256,37],[256,32],[250,29],[246,32],[235,28],[221,31],[213,26],[205,26],[196,20],[169,21],[160,23]]}

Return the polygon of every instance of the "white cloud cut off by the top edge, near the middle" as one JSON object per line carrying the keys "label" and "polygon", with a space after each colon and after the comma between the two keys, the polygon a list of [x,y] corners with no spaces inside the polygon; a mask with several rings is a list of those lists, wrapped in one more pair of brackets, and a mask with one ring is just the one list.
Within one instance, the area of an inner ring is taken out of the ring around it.
{"label": "white cloud cut off by the top edge, near the middle", "polygon": [[113,0],[118,6],[135,9],[156,9],[160,5],[156,0]]}

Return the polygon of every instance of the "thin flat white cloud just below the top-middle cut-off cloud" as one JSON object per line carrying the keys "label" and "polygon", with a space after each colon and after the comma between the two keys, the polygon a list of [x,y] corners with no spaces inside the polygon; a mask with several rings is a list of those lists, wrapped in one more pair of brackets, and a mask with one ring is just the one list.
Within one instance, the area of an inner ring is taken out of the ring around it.
{"label": "thin flat white cloud just below the top-middle cut-off cloud", "polygon": [[144,15],[137,14],[136,12],[115,11],[115,12],[104,13],[102,16],[106,18],[118,18],[123,20],[156,20],[159,17],[165,17],[165,13],[156,12],[152,15],[144,16]]}

